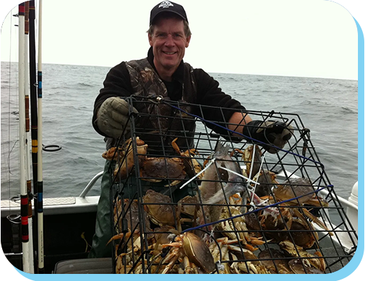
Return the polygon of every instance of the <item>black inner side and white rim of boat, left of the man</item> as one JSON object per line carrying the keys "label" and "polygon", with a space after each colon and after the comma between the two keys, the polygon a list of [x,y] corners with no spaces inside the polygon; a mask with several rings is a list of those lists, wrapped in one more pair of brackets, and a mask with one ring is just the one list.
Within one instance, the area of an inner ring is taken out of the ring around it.
{"label": "black inner side and white rim of boat, left of the man", "polygon": [[[87,258],[95,233],[99,197],[63,197],[44,199],[45,273],[52,273],[62,260]],[[1,246],[6,258],[22,270],[20,206],[1,200]],[[15,219],[11,223],[8,216]],[[33,237],[36,235],[33,224]]]}

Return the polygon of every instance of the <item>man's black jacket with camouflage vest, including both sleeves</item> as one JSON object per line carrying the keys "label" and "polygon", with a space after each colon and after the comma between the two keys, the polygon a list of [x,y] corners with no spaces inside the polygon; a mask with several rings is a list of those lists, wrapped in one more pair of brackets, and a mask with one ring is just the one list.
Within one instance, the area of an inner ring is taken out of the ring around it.
{"label": "man's black jacket with camouflage vest, including both sleeves", "polygon": [[[201,69],[194,69],[186,62],[181,61],[178,69],[172,76],[172,82],[165,82],[157,74],[155,70],[155,65],[153,64],[153,53],[152,48],[150,48],[148,55],[142,60],[131,60],[129,62],[121,62],[116,67],[113,67],[106,76],[103,82],[103,88],[100,90],[98,97],[94,104],[94,116],[93,116],[93,126],[96,132],[105,136],[97,127],[96,124],[96,113],[99,107],[109,97],[130,97],[132,94],[137,96],[147,97],[149,95],[162,96],[164,99],[171,99],[174,101],[186,101],[192,104],[202,104],[206,106],[219,106],[230,109],[245,109],[239,101],[232,99],[230,95],[225,94],[219,87],[219,83],[213,79],[208,73]],[[176,114],[172,112],[171,107],[162,106],[144,106],[142,104],[137,104],[136,109],[139,112],[155,115],[172,116]],[[186,107],[184,111],[191,112],[193,109]],[[199,112],[193,112],[194,114],[200,115]],[[203,112],[204,118],[211,121],[228,121],[233,111],[227,111],[223,114],[217,114],[213,110],[207,110]],[[189,119],[189,116],[186,116]],[[224,120],[222,120],[224,119]],[[161,121],[161,120],[159,120]],[[195,129],[193,122],[186,121],[184,123],[184,129],[186,133],[190,131],[191,133]],[[157,130],[158,124],[157,118],[152,118],[150,120],[140,120],[140,124],[149,128],[150,131]],[[169,121],[165,123],[162,122],[162,128],[171,128],[172,124]],[[208,125],[208,124],[207,124]],[[179,124],[174,124],[173,126],[181,126]],[[210,125],[208,125],[210,126]],[[220,134],[227,134],[227,132],[222,128],[213,128],[213,130]],[[142,138],[142,137],[141,137]],[[171,139],[166,140],[167,143]],[[112,139],[106,136],[107,149],[110,148],[112,144]],[[184,148],[184,145],[181,148]],[[189,144],[190,146],[191,144]],[[185,145],[186,146],[186,145]]]}

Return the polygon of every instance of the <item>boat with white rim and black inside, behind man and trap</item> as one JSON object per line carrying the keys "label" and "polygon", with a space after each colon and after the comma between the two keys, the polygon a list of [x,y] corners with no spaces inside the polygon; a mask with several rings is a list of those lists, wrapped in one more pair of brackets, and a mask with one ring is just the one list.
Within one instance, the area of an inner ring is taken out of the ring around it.
{"label": "boat with white rim and black inside, behind man and trap", "polygon": [[[111,258],[88,259],[92,236],[95,231],[96,209],[99,196],[87,196],[95,184],[99,184],[102,171],[87,184],[79,197],[57,197],[44,199],[45,229],[45,273],[55,272],[56,265],[74,264],[74,274],[111,274]],[[279,173],[280,176],[280,173]],[[323,194],[325,195],[325,193]],[[348,199],[338,197],[339,204],[346,209],[346,215],[357,233],[357,182]],[[12,200],[1,200],[1,250],[7,259],[5,263],[23,270],[21,250],[20,204]],[[11,219],[11,221],[9,221]],[[69,231],[72,229],[72,231]],[[342,229],[342,228],[341,228]],[[320,230],[319,230],[320,231]],[[344,233],[338,237],[336,246],[344,246],[347,253],[354,255],[351,239]],[[346,237],[347,236],[347,237]],[[356,239],[354,237],[354,239]],[[342,268],[344,265],[339,265]],[[68,269],[68,268],[67,268]]]}

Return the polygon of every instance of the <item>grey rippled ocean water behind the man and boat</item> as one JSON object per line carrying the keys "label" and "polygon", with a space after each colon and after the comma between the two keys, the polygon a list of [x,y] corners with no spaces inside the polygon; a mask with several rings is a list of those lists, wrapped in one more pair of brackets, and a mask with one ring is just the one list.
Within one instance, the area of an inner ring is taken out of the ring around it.
{"label": "grey rippled ocean water behind the man and boat", "polygon": [[[44,197],[78,196],[103,170],[103,137],[91,126],[94,100],[110,67],[43,65]],[[19,194],[17,64],[1,62],[1,199]],[[357,81],[210,73],[249,110],[299,114],[335,192],[357,181]],[[99,195],[100,183],[89,192]]]}

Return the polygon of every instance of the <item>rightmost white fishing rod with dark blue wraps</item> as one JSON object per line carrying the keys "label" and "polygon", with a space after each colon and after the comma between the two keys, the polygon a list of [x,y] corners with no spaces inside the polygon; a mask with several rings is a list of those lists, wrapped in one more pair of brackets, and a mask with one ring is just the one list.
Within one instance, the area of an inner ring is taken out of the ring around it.
{"label": "rightmost white fishing rod with dark blue wraps", "polygon": [[42,158],[42,0],[38,4],[38,273],[44,273]]}

